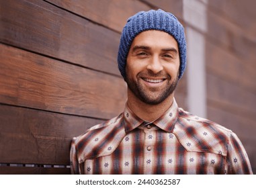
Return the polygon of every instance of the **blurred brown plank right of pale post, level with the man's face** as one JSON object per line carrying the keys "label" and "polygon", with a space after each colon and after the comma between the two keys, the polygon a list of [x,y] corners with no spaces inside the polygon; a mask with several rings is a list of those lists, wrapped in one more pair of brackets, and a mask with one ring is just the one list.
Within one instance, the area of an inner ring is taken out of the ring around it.
{"label": "blurred brown plank right of pale post, level with the man's face", "polygon": [[256,93],[256,67],[243,62],[243,60],[206,41],[206,67],[207,71],[223,77],[247,91]]}

